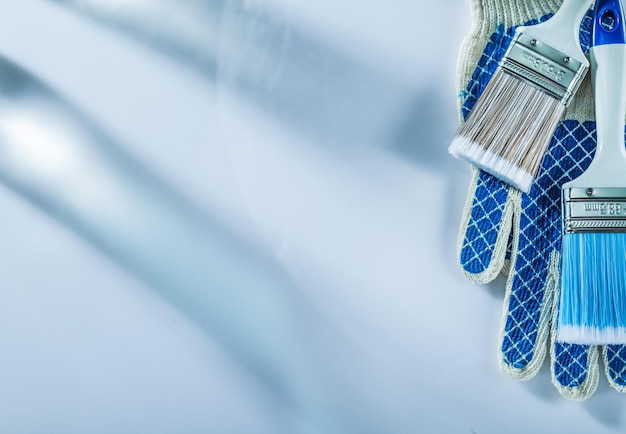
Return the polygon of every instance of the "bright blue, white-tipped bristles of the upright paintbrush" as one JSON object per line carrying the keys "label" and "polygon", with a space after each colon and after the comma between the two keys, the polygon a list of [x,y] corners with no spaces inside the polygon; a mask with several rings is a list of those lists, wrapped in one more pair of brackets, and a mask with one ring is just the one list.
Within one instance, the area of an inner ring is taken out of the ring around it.
{"label": "bright blue, white-tipped bristles of the upright paintbrush", "polygon": [[558,339],[626,343],[626,233],[563,236]]}

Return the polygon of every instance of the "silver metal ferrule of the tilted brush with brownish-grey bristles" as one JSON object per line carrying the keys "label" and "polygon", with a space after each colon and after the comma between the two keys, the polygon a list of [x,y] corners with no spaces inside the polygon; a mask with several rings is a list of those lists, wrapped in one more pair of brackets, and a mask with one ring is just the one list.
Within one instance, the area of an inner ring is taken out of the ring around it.
{"label": "silver metal ferrule of the tilted brush with brownish-grey bristles", "polygon": [[524,33],[514,36],[500,63],[503,72],[567,106],[589,67]]}

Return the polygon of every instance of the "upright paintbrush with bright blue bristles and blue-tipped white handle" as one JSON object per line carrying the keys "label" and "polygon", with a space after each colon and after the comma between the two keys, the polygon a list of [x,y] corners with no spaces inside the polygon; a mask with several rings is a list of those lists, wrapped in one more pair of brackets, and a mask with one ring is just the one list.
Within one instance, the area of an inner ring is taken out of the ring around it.
{"label": "upright paintbrush with bright blue bristles and blue-tipped white handle", "polygon": [[563,185],[563,266],[557,339],[626,343],[626,30],[619,0],[598,0],[590,50],[598,147]]}

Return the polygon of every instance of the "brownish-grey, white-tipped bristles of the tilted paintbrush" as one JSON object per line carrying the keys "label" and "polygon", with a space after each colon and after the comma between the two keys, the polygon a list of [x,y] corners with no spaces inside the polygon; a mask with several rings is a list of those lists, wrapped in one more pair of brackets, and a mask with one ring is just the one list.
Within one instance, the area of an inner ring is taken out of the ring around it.
{"label": "brownish-grey, white-tipped bristles of the tilted paintbrush", "polygon": [[528,192],[565,106],[497,70],[449,152]]}

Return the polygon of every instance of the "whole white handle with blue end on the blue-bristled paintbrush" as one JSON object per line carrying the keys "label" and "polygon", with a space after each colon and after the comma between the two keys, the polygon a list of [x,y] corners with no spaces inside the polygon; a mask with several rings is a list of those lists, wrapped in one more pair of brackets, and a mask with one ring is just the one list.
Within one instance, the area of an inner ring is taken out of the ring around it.
{"label": "whole white handle with blue end on the blue-bristled paintbrush", "polygon": [[598,147],[589,168],[564,188],[626,187],[626,28],[619,0],[596,2],[593,43],[590,54]]}

